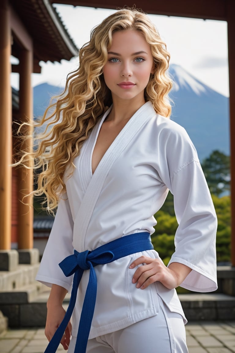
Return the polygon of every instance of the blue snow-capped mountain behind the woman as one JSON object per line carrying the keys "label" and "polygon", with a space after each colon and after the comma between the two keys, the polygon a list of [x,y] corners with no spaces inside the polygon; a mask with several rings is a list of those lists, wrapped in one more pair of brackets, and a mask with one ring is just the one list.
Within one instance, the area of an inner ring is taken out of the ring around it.
{"label": "blue snow-capped mountain behind the woman", "polygon": [[[174,81],[170,97],[171,119],[182,125],[192,139],[200,160],[213,150],[229,152],[229,98],[212,90],[179,65],[171,65]],[[63,89],[47,83],[33,89],[33,113],[41,116],[50,98]]]}

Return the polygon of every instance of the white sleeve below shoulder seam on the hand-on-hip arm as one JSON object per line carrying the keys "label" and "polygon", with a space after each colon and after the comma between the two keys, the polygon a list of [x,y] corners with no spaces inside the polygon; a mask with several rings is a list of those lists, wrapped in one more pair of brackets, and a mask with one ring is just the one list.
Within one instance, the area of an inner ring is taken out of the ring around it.
{"label": "white sleeve below shoulder seam on the hand-on-hip arm", "polygon": [[217,218],[199,162],[193,161],[174,174],[172,191],[179,226],[169,264],[180,262],[192,269],[181,287],[215,291]]}

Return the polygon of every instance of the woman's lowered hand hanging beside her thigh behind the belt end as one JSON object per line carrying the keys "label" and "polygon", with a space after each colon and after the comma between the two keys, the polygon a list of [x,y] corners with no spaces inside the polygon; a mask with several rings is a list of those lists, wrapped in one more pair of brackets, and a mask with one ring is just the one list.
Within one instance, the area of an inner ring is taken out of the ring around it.
{"label": "woman's lowered hand hanging beside her thigh behind the belt end", "polygon": [[[46,321],[46,327],[45,327],[45,335],[48,341],[52,339],[55,331],[60,326],[60,323],[62,322],[65,313],[66,311],[60,304],[48,306],[47,321]],[[72,331],[72,325],[69,321],[68,326],[66,327],[66,330],[64,331],[63,337],[60,341],[60,343],[62,344],[65,350],[67,350],[69,347],[71,331]]]}

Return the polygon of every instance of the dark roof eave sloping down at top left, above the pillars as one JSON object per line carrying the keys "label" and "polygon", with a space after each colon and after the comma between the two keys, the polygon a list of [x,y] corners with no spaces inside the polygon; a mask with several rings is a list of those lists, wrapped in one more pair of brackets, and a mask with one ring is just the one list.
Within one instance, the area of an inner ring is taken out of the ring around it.
{"label": "dark roof eave sloping down at top left, above the pillars", "polygon": [[78,55],[79,49],[50,1],[10,0],[10,4],[32,38],[35,61],[70,60]]}

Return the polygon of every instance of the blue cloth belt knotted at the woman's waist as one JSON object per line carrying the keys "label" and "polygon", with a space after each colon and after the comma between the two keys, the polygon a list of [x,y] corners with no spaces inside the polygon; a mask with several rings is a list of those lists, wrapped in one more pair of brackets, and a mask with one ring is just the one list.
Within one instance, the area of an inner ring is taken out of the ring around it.
{"label": "blue cloth belt knotted at the woman's waist", "polygon": [[73,255],[66,257],[60,264],[60,268],[66,277],[74,274],[73,288],[71,298],[63,321],[56,330],[54,336],[49,342],[44,353],[55,353],[58,348],[64,331],[72,316],[72,312],[76,302],[78,286],[84,270],[90,270],[89,282],[86,289],[84,303],[78,328],[78,336],[76,340],[75,352],[85,353],[89,332],[91,329],[91,322],[94,314],[95,300],[97,294],[97,277],[94,267],[100,264],[113,262],[121,257],[141,252],[145,250],[152,250],[150,234],[147,232],[135,233],[126,235],[110,241],[110,243],[99,246],[93,251],[78,252],[74,250]]}

